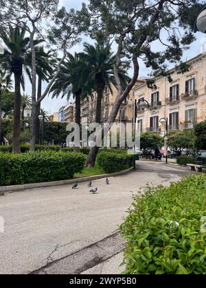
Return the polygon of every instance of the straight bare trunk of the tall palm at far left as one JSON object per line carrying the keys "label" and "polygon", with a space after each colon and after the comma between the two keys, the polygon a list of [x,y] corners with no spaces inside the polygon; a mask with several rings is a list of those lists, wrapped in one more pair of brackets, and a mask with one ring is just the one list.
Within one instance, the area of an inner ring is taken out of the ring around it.
{"label": "straight bare trunk of the tall palm at far left", "polygon": [[14,74],[15,95],[14,95],[14,129],[12,153],[21,153],[20,133],[21,133],[21,74]]}

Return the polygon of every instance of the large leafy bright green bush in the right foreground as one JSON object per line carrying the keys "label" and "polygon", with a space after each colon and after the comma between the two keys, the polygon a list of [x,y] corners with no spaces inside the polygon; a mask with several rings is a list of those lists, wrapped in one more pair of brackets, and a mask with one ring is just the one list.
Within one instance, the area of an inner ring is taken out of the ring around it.
{"label": "large leafy bright green bush in the right foreground", "polygon": [[139,196],[121,226],[124,273],[205,274],[206,177],[190,176]]}

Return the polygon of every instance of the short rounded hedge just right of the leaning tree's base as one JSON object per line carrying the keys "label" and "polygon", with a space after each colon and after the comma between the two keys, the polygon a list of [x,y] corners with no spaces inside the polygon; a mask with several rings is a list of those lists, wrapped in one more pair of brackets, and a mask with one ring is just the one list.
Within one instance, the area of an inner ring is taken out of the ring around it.
{"label": "short rounded hedge just right of the leaning tree's base", "polygon": [[105,173],[114,173],[132,167],[133,159],[134,156],[128,155],[126,152],[119,154],[114,152],[101,152],[98,155],[97,163]]}

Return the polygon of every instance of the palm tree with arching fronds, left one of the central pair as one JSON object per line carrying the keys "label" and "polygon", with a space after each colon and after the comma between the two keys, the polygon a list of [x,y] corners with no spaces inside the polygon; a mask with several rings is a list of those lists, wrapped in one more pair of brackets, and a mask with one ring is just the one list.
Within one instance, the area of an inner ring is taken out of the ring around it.
{"label": "palm tree with arching fronds, left one of the central pair", "polygon": [[62,98],[67,96],[67,101],[71,95],[76,101],[76,119],[75,123],[79,126],[81,124],[81,99],[89,95],[89,87],[85,84],[80,85],[79,75],[76,73],[77,67],[84,66],[80,58],[80,54],[75,53],[72,56],[70,53],[67,55],[67,60],[62,64],[60,73],[54,82],[49,93],[52,93],[52,98],[58,97],[62,94]]}

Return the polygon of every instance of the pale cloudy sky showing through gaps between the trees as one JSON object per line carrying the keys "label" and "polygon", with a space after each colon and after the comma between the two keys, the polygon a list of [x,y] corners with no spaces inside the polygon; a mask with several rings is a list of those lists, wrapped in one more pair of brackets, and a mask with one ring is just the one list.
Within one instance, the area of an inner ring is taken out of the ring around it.
{"label": "pale cloudy sky showing through gaps between the trees", "polygon": [[[68,10],[70,8],[74,8],[74,9],[80,9],[81,5],[82,5],[82,0],[60,0],[60,7],[61,6],[65,6]],[[87,3],[88,1],[84,0],[84,3]],[[187,61],[195,56],[197,56],[199,53],[201,53],[201,47],[203,46],[203,43],[205,43],[206,45],[206,35],[201,34],[200,32],[198,32],[196,34],[196,41],[194,43],[192,43],[192,45],[190,46],[189,50],[184,51],[183,53],[183,61]],[[92,43],[90,38],[86,38],[86,37],[82,37],[82,43],[84,42],[89,42]],[[69,51],[70,53],[74,53],[74,52],[80,52],[82,51],[83,47],[82,47],[82,43],[79,45],[76,45],[75,47],[72,47],[72,49]],[[155,49],[155,47],[154,47]],[[205,49],[206,51],[206,49]],[[150,73],[150,69],[146,69],[144,63],[142,61],[140,61],[140,70],[139,70],[139,77],[146,77],[148,76],[148,74]],[[170,67],[172,68],[172,67]],[[45,84],[43,84],[43,88],[45,88]],[[27,93],[31,93],[31,88],[30,88],[30,84],[28,84],[26,86],[26,92]],[[45,99],[43,100],[41,106],[42,108],[44,108],[46,111],[48,112],[58,112],[58,109],[61,106],[65,106],[67,104],[67,99],[65,97],[65,99],[60,99],[60,97],[58,99],[52,99],[51,96],[47,96],[45,97]]]}

